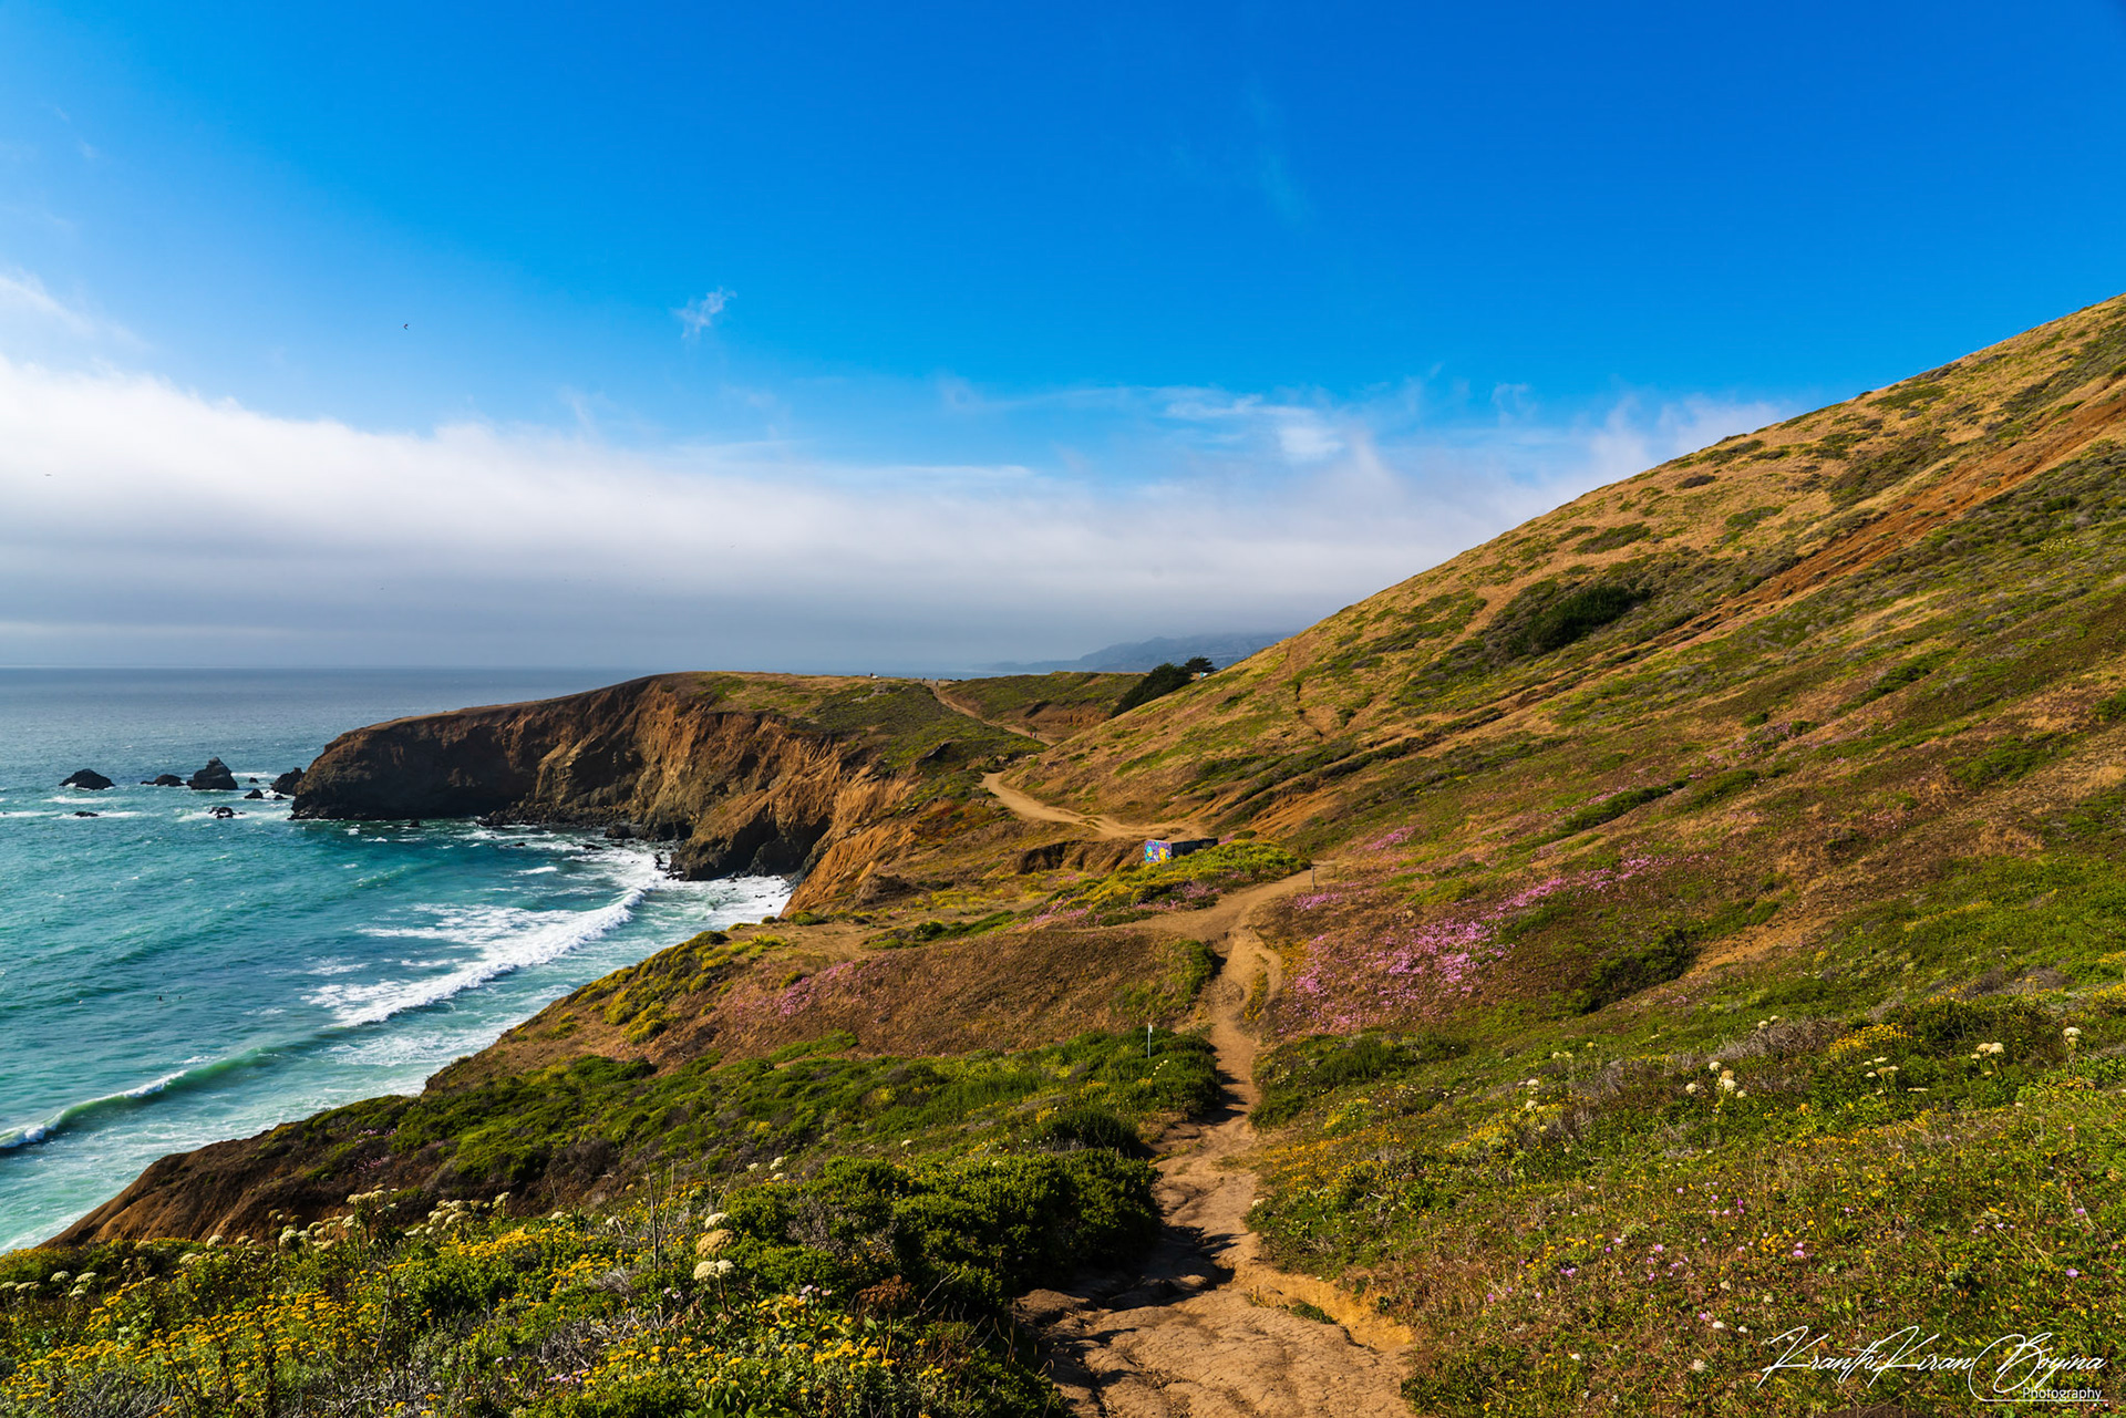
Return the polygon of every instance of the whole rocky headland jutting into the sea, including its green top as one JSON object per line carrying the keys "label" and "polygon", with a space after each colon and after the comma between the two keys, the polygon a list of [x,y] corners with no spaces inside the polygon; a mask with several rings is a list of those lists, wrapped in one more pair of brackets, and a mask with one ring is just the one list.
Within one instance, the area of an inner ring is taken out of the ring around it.
{"label": "whole rocky headland jutting into the sea, including its green top", "polygon": [[1040,746],[921,680],[659,674],[342,733],[293,814],[606,827],[678,876],[797,878],[802,908],[880,876],[927,784]]}

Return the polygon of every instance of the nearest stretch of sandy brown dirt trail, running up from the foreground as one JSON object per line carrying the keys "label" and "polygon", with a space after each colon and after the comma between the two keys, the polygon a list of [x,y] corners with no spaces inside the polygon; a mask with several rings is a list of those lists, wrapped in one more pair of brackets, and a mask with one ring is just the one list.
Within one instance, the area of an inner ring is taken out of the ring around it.
{"label": "nearest stretch of sandy brown dirt trail, running up from the foreground", "polygon": [[[1048,1375],[1080,1418],[1407,1418],[1399,1350],[1407,1333],[1354,1297],[1259,1256],[1248,1231],[1254,1174],[1235,1159],[1254,1146],[1256,1040],[1246,1008],[1256,980],[1278,989],[1278,957],[1248,925],[1265,901],[1307,876],[1235,893],[1174,916],[1220,952],[1205,991],[1227,1105],[1169,1131],[1161,1146],[1165,1233],[1140,1267],[1035,1290],[1016,1314],[1050,1346]],[[1337,1322],[1310,1320],[1305,1303]]]}

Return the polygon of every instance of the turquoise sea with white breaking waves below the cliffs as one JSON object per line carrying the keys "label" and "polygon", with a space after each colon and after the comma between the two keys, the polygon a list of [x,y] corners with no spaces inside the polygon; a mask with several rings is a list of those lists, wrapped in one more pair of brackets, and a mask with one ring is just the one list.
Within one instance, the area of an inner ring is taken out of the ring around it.
{"label": "turquoise sea with white breaking waves below the cliffs", "polygon": [[[578,984],[780,910],[776,878],[678,882],[595,833],[138,787],[210,755],[264,787],[351,727],[617,678],[0,670],[0,1250],[166,1152],[417,1093]],[[77,767],[119,787],[57,787]]]}

